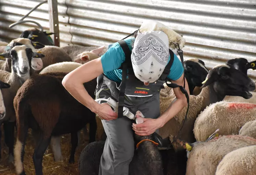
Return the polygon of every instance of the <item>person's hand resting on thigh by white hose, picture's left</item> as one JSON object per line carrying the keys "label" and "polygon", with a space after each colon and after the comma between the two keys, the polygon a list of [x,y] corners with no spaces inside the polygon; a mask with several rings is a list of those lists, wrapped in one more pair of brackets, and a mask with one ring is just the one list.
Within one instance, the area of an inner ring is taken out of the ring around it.
{"label": "person's hand resting on thigh by white hose, picture's left", "polygon": [[108,105],[107,103],[102,103],[101,104],[101,108],[100,110],[97,112],[98,117],[101,120],[114,120],[117,119],[117,113],[115,113],[112,108],[110,107],[110,105]]}

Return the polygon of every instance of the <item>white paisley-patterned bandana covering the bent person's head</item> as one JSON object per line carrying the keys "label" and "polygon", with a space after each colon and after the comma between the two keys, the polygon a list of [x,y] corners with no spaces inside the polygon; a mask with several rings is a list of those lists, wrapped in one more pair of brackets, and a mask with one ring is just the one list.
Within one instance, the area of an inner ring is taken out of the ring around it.
{"label": "white paisley-patterned bandana covering the bent person's head", "polygon": [[132,49],[135,76],[142,82],[158,80],[169,59],[169,40],[162,31],[138,33]]}

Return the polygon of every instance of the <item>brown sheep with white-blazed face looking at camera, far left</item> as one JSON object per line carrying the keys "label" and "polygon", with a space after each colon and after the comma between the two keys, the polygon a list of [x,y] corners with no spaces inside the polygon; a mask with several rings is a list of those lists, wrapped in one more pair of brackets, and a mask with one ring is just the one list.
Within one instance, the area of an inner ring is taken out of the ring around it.
{"label": "brown sheep with white-blazed face looking at camera, far left", "polygon": [[[15,46],[9,52],[0,56],[11,60],[11,73],[0,70],[0,81],[8,83],[11,87],[2,90],[3,100],[6,108],[6,115],[0,120],[0,126],[4,124],[5,143],[9,147],[9,162],[13,161],[15,111],[13,99],[17,90],[31,75],[33,64],[32,57],[42,58],[44,55],[33,52],[31,48],[22,45]],[[1,136],[1,133],[0,133]]]}

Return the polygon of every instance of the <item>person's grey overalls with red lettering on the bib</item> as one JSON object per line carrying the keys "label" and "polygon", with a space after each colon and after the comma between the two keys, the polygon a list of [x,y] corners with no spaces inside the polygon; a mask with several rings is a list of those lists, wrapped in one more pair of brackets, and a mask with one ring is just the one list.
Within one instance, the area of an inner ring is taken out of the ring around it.
{"label": "person's grey overalls with red lettering on the bib", "polygon": [[[118,102],[120,85],[100,75],[97,78],[96,99],[110,97]],[[129,108],[133,114],[139,110],[146,118],[158,118],[160,116],[160,88],[161,86],[155,84],[145,86],[143,82],[129,77],[126,80],[124,106]],[[99,175],[128,175],[135,147],[133,121],[126,116],[101,121],[107,140],[100,160]]]}

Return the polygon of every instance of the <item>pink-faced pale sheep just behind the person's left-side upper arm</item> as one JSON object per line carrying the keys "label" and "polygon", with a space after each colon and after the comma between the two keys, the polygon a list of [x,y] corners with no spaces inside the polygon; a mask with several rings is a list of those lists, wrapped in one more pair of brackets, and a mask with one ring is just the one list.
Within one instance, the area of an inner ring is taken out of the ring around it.
{"label": "pink-faced pale sheep just behind the person's left-side upper arm", "polygon": [[72,61],[84,64],[90,60],[99,58],[106,52],[105,46],[94,47],[94,46],[65,46],[61,47],[69,56],[72,58]]}

